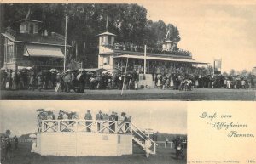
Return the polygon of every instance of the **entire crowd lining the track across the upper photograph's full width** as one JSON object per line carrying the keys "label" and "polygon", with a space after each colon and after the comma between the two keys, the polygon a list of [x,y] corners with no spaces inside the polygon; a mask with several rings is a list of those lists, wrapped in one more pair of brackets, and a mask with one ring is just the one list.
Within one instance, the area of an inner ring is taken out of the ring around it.
{"label": "entire crowd lining the track across the upper photograph's full width", "polygon": [[[131,66],[131,65],[130,65]],[[32,68],[19,71],[1,72],[1,89],[29,89],[41,91],[54,89],[55,92],[84,93],[84,89],[138,89],[140,67],[133,65],[132,71],[90,72],[83,69],[61,72],[55,69],[35,71]],[[202,68],[185,65],[154,68],[152,73],[156,88],[173,88],[189,91],[192,88],[252,88],[253,77],[209,75]]]}

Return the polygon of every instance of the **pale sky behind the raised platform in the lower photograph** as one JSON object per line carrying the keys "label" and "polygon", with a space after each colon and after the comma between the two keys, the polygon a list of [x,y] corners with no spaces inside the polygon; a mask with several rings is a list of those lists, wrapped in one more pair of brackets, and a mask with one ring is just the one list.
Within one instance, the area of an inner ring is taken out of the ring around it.
{"label": "pale sky behind the raised platform in the lower photograph", "polygon": [[110,114],[112,111],[124,111],[132,116],[132,122],[141,130],[152,128],[154,132],[186,134],[187,106],[184,102],[166,101],[1,101],[0,133],[7,129],[12,136],[34,133],[37,129],[37,112],[39,108],[53,110],[55,116],[59,110],[77,111],[79,119],[90,110],[92,117],[102,110]]}

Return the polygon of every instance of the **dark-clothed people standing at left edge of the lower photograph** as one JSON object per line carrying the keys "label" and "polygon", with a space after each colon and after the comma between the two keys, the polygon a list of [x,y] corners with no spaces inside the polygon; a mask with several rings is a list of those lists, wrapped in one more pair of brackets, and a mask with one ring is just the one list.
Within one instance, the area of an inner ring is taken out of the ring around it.
{"label": "dark-clothed people standing at left edge of the lower photograph", "polygon": [[[15,136],[13,139],[15,149],[18,149],[18,138]],[[12,149],[11,139],[9,136],[1,136],[1,163],[10,159],[10,151]]]}

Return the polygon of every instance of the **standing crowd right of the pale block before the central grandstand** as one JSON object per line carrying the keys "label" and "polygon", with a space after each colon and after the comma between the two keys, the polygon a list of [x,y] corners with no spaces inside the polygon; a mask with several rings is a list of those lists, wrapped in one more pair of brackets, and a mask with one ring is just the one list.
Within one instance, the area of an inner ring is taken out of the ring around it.
{"label": "standing crowd right of the pale block before the central grandstand", "polygon": [[164,74],[154,76],[155,86],[158,88],[173,88],[180,91],[189,91],[192,88],[252,88],[254,86],[253,78],[241,76],[223,76],[223,75],[177,75]]}

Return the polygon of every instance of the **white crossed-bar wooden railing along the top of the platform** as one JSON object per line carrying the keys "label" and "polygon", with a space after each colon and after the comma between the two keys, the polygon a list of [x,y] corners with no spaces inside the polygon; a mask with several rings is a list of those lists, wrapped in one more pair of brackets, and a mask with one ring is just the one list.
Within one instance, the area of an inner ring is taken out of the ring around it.
{"label": "white crossed-bar wooden railing along the top of the platform", "polygon": [[42,120],[40,133],[131,133],[131,122],[104,120]]}

